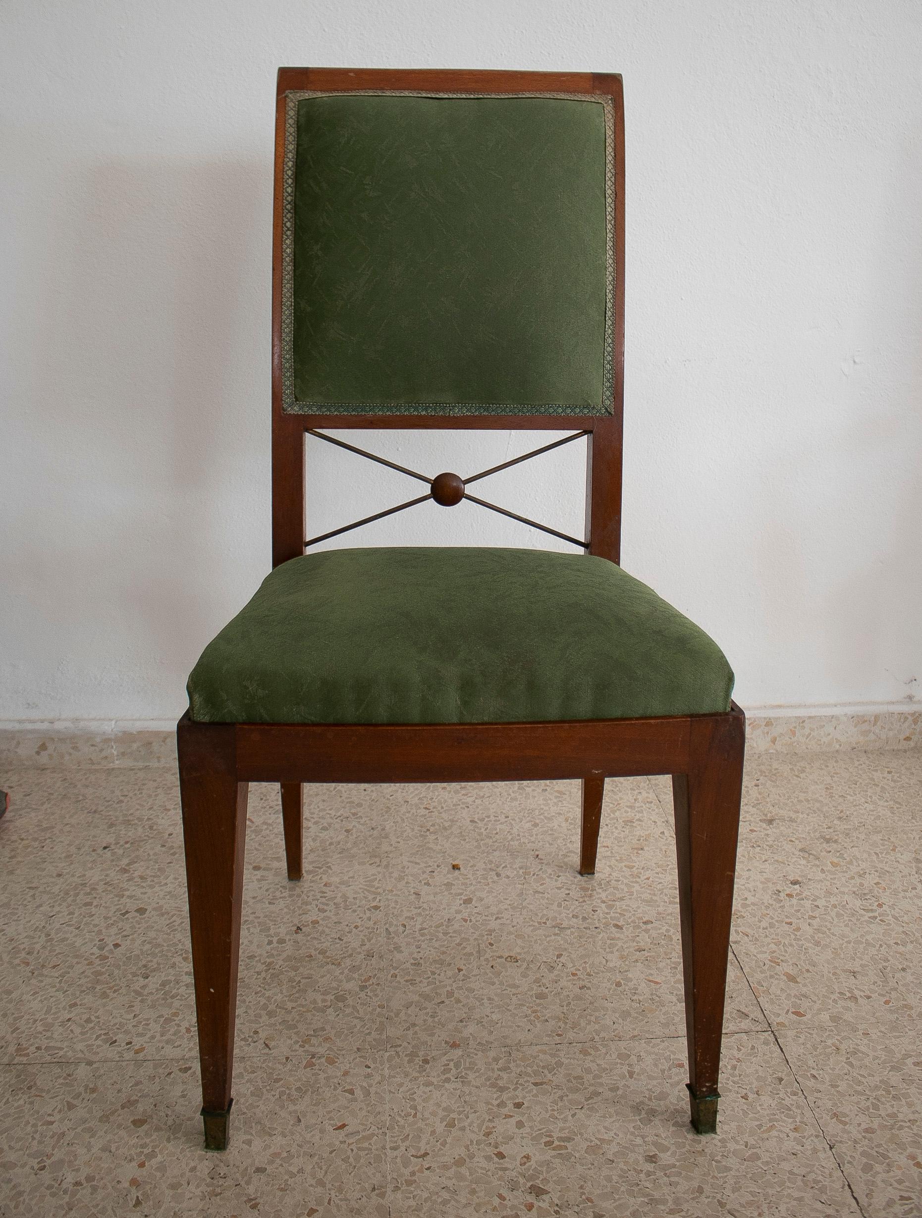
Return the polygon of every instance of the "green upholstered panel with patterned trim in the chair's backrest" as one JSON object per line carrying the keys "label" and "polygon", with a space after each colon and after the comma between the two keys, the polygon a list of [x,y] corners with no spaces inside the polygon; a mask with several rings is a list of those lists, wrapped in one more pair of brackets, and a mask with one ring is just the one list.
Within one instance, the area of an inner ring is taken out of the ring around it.
{"label": "green upholstered panel with patterned trim in the chair's backrest", "polygon": [[289,93],[284,410],[609,414],[610,107]]}

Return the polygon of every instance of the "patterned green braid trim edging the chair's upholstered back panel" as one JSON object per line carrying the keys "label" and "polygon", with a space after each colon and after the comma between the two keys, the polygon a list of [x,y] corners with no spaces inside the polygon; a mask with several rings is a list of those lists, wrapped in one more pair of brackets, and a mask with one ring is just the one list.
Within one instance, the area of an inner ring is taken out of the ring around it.
{"label": "patterned green braid trim edging the chair's upholstered back panel", "polygon": [[[520,402],[301,402],[295,397],[295,157],[297,156],[297,102],[309,97],[547,97],[558,101],[587,101],[605,114],[605,350],[603,356],[602,403],[596,409],[568,403]],[[613,331],[615,309],[615,138],[614,105],[605,94],[585,93],[438,93],[417,89],[289,89],[285,93],[285,160],[281,201],[281,409],[285,414],[533,414],[611,415]]]}

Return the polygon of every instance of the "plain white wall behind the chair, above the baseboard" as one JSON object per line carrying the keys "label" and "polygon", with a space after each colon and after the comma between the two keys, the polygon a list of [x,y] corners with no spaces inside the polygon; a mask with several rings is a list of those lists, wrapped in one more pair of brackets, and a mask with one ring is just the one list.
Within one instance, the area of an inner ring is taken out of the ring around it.
{"label": "plain white wall behind the chair, above the baseboard", "polygon": [[[283,63],[624,73],[625,566],[744,705],[912,698],[916,0],[5,0],[0,719],[178,715],[268,570]],[[527,446],[367,438],[432,473]],[[491,493],[579,530],[577,447]],[[357,512],[413,493],[324,449],[317,531],[353,476]],[[357,543],[453,538],[542,544],[470,505]]]}

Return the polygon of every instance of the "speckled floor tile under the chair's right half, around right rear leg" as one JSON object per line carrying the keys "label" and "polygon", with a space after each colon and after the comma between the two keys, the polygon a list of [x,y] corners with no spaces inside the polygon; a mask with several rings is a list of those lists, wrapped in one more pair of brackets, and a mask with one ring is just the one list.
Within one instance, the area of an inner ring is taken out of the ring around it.
{"label": "speckled floor tile under the chair's right half, around right rear leg", "polygon": [[[445,826],[459,871],[424,842],[391,877],[387,1044],[683,1035],[675,842],[646,780],[607,784],[594,877],[576,871],[579,784],[510,787],[519,789],[493,788],[507,809],[531,797],[519,821],[530,822],[526,848],[516,840],[503,859],[484,857],[484,832],[504,829],[476,815],[473,800],[482,806],[491,794],[481,788],[458,798],[466,815]],[[435,816],[441,799],[428,793]],[[727,1027],[766,1027],[736,961]]]}

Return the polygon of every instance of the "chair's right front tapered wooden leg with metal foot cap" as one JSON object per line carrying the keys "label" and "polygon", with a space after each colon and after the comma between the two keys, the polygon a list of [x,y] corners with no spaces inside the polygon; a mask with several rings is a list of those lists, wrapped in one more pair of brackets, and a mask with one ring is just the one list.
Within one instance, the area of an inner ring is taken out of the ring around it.
{"label": "chair's right front tapered wooden leg with metal foot cap", "polygon": [[745,717],[692,721],[689,772],[672,776],[692,1125],[716,1133]]}

